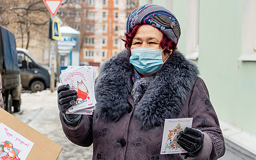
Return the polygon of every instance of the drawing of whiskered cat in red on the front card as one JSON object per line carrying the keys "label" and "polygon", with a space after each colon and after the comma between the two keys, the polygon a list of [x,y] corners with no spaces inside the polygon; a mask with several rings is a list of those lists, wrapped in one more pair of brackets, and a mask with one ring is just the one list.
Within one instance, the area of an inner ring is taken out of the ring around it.
{"label": "drawing of whiskered cat in red on the front card", "polygon": [[85,86],[83,80],[80,82],[77,81],[77,100],[75,101],[74,105],[79,105],[85,101],[87,101],[89,91],[87,87]]}

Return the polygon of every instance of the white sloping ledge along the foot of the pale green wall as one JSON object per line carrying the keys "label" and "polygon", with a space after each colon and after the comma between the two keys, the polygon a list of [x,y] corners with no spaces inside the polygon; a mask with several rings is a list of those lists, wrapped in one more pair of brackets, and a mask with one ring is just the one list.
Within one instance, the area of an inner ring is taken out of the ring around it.
{"label": "white sloping ledge along the foot of the pale green wall", "polygon": [[256,135],[248,133],[219,119],[225,139],[256,155]]}

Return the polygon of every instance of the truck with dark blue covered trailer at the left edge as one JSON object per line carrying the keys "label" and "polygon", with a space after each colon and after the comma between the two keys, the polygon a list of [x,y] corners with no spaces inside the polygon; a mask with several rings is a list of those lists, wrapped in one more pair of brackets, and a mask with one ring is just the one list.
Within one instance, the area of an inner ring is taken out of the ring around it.
{"label": "truck with dark blue covered trailer at the left edge", "polygon": [[18,67],[15,37],[13,32],[1,25],[0,73],[5,110],[10,113],[19,112],[21,106],[21,75]]}

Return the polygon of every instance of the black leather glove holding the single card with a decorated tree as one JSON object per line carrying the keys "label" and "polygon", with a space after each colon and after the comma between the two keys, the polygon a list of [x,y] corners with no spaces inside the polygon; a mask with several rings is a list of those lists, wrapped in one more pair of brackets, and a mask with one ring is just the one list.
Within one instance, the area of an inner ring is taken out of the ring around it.
{"label": "black leather glove holding the single card with a decorated tree", "polygon": [[185,128],[178,135],[177,143],[192,157],[196,157],[203,145],[204,134],[195,128]]}

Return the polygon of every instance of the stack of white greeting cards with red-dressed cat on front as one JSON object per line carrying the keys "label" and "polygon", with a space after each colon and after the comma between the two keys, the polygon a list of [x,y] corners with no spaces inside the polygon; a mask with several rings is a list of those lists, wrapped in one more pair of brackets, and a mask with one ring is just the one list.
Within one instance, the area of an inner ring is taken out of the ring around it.
{"label": "stack of white greeting cards with red-dressed cat on front", "polygon": [[95,75],[92,66],[68,66],[61,71],[59,78],[62,85],[69,84],[77,91],[77,100],[66,110],[67,114],[92,115],[97,103],[94,94]]}

